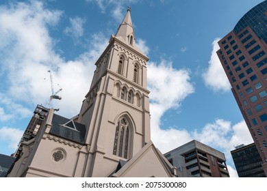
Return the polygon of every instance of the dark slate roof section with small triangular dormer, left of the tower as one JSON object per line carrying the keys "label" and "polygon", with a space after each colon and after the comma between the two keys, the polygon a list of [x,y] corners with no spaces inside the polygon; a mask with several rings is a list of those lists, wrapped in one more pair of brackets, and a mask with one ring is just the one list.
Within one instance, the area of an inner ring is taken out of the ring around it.
{"label": "dark slate roof section with small triangular dormer, left of the tower", "polygon": [[52,127],[49,133],[66,138],[76,143],[84,144],[86,126],[81,123],[77,123],[72,119],[67,119],[66,117],[62,117],[54,113]]}

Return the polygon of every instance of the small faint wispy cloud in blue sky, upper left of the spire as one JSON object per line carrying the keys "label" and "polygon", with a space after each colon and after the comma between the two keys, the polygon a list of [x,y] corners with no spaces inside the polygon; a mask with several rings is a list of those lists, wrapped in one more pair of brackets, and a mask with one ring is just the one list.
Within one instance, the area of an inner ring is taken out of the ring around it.
{"label": "small faint wispy cloud in blue sky, upper left of the spire", "polygon": [[84,35],[83,25],[85,22],[85,19],[78,16],[70,18],[71,27],[66,27],[64,32],[66,33],[66,35],[70,35],[73,38],[79,38]]}

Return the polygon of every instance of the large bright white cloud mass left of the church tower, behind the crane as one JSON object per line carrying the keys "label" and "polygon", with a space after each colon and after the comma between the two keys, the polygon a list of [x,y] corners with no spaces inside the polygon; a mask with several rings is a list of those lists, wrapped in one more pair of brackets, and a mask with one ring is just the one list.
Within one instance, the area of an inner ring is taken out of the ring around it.
{"label": "large bright white cloud mass left of the church tower, behind the crane", "polygon": [[[46,105],[51,95],[47,71],[51,70],[55,91],[58,89],[57,84],[63,89],[60,92],[62,100],[53,100],[51,106],[59,107],[60,113],[67,115],[66,117],[77,115],[90,86],[94,62],[103,52],[108,40],[101,33],[92,35],[92,50],[73,61],[64,61],[55,53],[55,40],[49,35],[51,20],[55,25],[61,12],[47,10],[42,3],[36,1],[2,6],[0,10],[0,39],[5,40],[4,44],[0,44],[0,54],[3,57],[0,63],[8,76],[8,91],[3,92],[6,102],[0,102],[1,107],[16,106],[17,113],[20,110],[22,114],[29,115],[21,103]],[[81,35],[81,28],[79,30]],[[2,115],[10,116],[3,112]]]}

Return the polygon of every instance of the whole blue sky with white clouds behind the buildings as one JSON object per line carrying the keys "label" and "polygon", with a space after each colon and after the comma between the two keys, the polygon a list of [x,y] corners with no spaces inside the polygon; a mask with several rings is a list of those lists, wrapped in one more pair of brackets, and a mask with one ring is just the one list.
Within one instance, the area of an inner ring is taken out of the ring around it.
{"label": "whole blue sky with white clouds behind the buildings", "polygon": [[149,57],[151,139],[162,153],[192,140],[225,153],[253,143],[216,55],[218,40],[257,0],[0,1],[0,153],[10,155],[37,104],[47,106],[49,72],[73,117],[90,88],[95,61],[127,7],[139,48]]}

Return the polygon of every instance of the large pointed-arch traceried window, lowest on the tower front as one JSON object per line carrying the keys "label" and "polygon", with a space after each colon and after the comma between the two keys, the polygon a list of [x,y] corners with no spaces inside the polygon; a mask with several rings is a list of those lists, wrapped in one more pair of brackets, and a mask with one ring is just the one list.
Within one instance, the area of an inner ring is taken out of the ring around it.
{"label": "large pointed-arch traceried window, lowest on the tower front", "polygon": [[125,117],[118,119],[116,126],[113,154],[122,158],[128,158],[129,153],[129,122]]}

